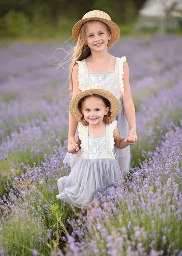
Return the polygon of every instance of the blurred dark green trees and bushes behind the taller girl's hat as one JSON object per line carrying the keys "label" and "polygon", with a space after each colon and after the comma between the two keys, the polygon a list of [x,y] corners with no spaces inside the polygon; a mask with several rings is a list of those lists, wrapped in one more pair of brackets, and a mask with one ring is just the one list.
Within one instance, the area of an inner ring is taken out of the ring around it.
{"label": "blurred dark green trees and bushes behind the taller girl's hat", "polygon": [[125,24],[133,22],[138,9],[145,1],[0,0],[0,35],[42,37],[51,33],[66,34],[71,31],[75,21],[94,9],[107,12],[116,23],[124,24],[122,33],[128,33]]}

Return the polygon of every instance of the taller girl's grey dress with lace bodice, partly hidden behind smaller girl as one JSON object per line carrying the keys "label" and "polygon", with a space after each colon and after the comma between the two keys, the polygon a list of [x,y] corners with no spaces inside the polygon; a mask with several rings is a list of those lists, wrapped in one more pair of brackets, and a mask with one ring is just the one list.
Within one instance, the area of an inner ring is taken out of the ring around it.
{"label": "taller girl's grey dress with lace bodice, partly hidden behind smaller girl", "polygon": [[[122,138],[126,138],[129,133],[128,121],[125,116],[125,112],[122,104],[122,95],[124,94],[123,84],[123,63],[126,61],[126,57],[116,58],[115,70],[113,72],[104,73],[91,73],[88,72],[85,59],[77,61],[79,67],[78,81],[79,89],[83,90],[85,87],[99,86],[113,93],[120,103],[120,111],[116,120],[118,122],[119,134]],[[76,131],[75,139],[77,140],[78,134]],[[119,149],[114,146],[114,152],[116,153],[116,160],[119,163],[120,169],[124,172],[129,172],[130,168],[130,146]],[[71,169],[80,160],[81,155],[72,155],[67,153],[64,159],[64,163],[67,163]]]}

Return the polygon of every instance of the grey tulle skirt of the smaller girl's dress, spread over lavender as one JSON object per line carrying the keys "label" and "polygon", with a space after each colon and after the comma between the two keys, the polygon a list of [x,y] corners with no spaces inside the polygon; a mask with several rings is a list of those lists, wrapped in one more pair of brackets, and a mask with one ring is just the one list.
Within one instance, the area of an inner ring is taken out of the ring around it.
{"label": "grey tulle skirt of the smaller girl's dress, spread over lavender", "polygon": [[57,199],[79,208],[94,204],[94,196],[105,193],[121,181],[121,171],[115,159],[82,159],[71,170],[69,176],[57,181]]}

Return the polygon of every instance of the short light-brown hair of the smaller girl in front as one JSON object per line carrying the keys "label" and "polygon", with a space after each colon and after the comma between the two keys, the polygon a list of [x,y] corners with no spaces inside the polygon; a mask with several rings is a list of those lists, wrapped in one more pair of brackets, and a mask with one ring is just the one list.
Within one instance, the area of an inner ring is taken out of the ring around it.
{"label": "short light-brown hair of the smaller girl in front", "polygon": [[[85,101],[85,99],[91,98],[93,96],[101,99],[102,102],[104,102],[106,108],[109,108],[109,109],[111,108],[111,103],[108,101],[108,99],[106,99],[105,97],[98,95],[98,94],[88,95],[88,96],[85,96],[82,99],[80,99],[80,101],[78,102],[78,111],[80,111],[80,113],[82,114],[82,117],[80,118],[79,122],[81,122],[82,125],[84,125],[84,126],[88,126],[88,122],[85,120],[84,115],[81,111],[82,104]],[[112,113],[111,111],[108,111],[108,113],[106,115],[104,115],[103,122],[106,125],[110,125],[110,123],[111,123],[111,113]]]}

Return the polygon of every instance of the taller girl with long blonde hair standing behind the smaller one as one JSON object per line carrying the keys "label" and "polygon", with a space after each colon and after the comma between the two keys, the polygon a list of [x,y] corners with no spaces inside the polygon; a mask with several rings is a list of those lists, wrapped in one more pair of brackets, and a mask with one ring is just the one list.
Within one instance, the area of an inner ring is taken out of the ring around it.
{"label": "taller girl with long blonde hair standing behind the smaller one", "polygon": [[[72,98],[85,88],[94,86],[113,93],[120,103],[116,117],[119,134],[134,143],[137,141],[137,132],[128,64],[125,57],[116,58],[108,53],[108,47],[120,38],[119,27],[105,12],[91,11],[74,25],[72,35],[77,41],[70,72]],[[72,144],[76,145],[77,124],[69,114],[68,148]],[[119,149],[115,146],[114,151],[120,169],[129,172],[130,147]],[[68,163],[72,169],[79,159],[77,154],[67,153],[64,163]]]}

